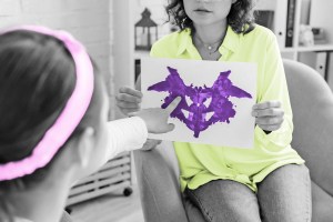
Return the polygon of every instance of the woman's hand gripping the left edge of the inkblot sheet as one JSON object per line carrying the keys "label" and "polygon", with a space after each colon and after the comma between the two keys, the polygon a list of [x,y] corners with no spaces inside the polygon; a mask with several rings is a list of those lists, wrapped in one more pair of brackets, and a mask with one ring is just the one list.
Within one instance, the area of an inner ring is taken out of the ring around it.
{"label": "woman's hand gripping the left edge of the inkblot sheet", "polygon": [[142,92],[131,89],[129,87],[122,87],[119,89],[119,94],[115,95],[117,105],[120,111],[129,115],[131,112],[140,110],[140,103],[142,100]]}

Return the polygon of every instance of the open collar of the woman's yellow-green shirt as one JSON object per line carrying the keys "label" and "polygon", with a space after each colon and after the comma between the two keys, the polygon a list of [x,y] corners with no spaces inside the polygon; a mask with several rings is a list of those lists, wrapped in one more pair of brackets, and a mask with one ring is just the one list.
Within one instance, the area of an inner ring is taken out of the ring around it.
{"label": "open collar of the woman's yellow-green shirt", "polygon": [[[189,50],[192,43],[191,38],[191,29],[185,29],[180,32],[181,34],[181,42],[176,52],[176,56],[182,54],[185,50]],[[238,50],[240,43],[240,34],[235,33],[230,26],[228,26],[226,34],[224,37],[224,40],[219,48],[219,51],[221,52],[222,48],[226,48],[228,50],[235,52]]]}

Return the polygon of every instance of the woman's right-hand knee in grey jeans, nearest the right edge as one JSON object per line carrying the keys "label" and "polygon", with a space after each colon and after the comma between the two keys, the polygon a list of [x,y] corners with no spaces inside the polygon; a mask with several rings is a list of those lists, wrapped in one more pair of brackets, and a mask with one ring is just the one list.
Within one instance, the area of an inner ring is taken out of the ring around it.
{"label": "woman's right-hand knee in grey jeans, nearest the right edge", "polygon": [[263,221],[304,222],[311,220],[311,180],[302,164],[281,167],[258,185]]}

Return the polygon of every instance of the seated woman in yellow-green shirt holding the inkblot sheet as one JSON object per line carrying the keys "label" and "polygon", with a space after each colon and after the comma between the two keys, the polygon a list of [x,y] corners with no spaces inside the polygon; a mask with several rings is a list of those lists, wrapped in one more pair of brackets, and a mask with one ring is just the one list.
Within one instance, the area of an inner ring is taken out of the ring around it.
{"label": "seated woman in yellow-green shirt holding the inkblot sheet", "polygon": [[[258,103],[249,110],[256,123],[253,149],[174,142],[181,191],[205,221],[311,221],[309,170],[290,145],[292,110],[279,47],[253,22],[252,9],[252,0],[171,0],[167,7],[180,31],[155,42],[151,57],[258,64]],[[137,93],[120,90],[124,113],[139,109]]]}

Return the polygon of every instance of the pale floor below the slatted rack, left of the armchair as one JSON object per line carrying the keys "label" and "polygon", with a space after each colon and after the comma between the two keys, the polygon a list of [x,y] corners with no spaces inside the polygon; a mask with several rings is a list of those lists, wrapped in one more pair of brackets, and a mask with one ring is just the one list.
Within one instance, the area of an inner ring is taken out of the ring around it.
{"label": "pale floor below the slatted rack, left of the armchair", "polygon": [[138,186],[130,196],[122,191],[72,205],[74,222],[144,222]]}

